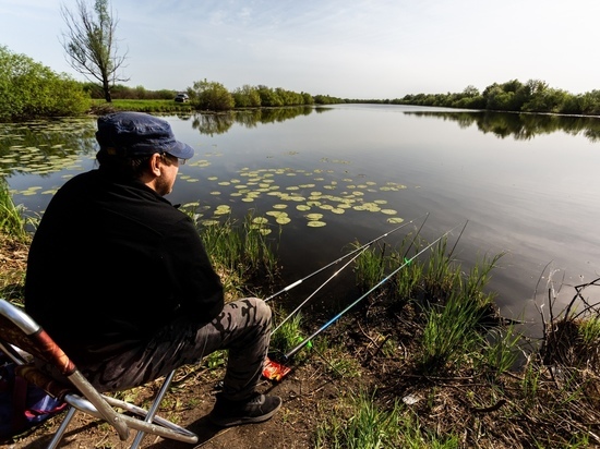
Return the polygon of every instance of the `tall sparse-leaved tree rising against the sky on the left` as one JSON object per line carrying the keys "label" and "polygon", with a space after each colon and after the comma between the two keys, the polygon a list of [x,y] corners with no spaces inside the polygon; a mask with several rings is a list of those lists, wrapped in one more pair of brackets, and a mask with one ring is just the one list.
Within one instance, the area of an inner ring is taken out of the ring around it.
{"label": "tall sparse-leaved tree rising against the sky on the left", "polygon": [[[110,89],[117,82],[127,82],[118,75],[124,66],[127,51],[119,56],[116,39],[118,21],[109,11],[108,0],[95,0],[94,11],[85,2],[76,0],[76,10],[61,4],[60,12],[68,31],[62,34],[62,48],[67,62],[89,81],[101,86],[107,102],[111,102]],[[94,16],[96,15],[96,17]]]}

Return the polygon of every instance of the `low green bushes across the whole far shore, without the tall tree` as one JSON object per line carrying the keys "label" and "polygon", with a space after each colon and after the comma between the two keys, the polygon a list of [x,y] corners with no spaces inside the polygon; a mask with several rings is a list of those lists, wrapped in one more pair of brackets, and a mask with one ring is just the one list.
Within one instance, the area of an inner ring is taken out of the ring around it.
{"label": "low green bushes across the whole far shore, without the tall tree", "polygon": [[[185,93],[189,101],[178,104],[175,96]],[[100,85],[80,82],[65,73],[58,74],[26,54],[0,46],[0,122],[16,122],[49,117],[77,116],[110,110]],[[505,112],[600,116],[600,90],[572,94],[551,87],[542,80],[509,80],[492,83],[479,90],[468,85],[459,93],[407,94],[399,98],[358,99],[331,95],[312,95],[281,87],[243,85],[229,90],[221,83],[196,81],[182,90],[148,90],[143,86],[113,85],[109,98],[136,100],[134,110],[228,111],[245,108],[317,106],[334,104],[413,105]],[[129,105],[128,105],[129,106]],[[104,108],[104,109],[103,109]]]}

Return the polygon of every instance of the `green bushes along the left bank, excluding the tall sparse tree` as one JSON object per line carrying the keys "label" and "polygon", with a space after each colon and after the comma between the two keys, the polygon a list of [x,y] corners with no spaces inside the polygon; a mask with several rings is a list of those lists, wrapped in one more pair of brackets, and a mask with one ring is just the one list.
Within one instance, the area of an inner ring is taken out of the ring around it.
{"label": "green bushes along the left bank, excluding the tall sparse tree", "polygon": [[[195,110],[225,111],[240,108],[311,106],[344,102],[328,95],[312,96],[281,87],[243,85],[228,90],[214,81],[197,81],[187,93]],[[169,100],[177,90],[148,90],[143,86],[110,87],[112,99]],[[0,46],[0,122],[29,120],[40,117],[76,116],[91,108],[92,99],[105,99],[101,83],[79,82],[68,74],[58,74],[50,68],[25,54],[17,54]]]}

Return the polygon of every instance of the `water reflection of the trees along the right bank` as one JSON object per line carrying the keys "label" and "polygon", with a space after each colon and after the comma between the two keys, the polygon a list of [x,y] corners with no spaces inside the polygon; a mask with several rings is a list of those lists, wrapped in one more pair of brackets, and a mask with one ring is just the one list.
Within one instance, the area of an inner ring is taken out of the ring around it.
{"label": "water reflection of the trees along the right bank", "polygon": [[591,142],[598,142],[600,138],[600,120],[593,117],[487,111],[407,111],[405,113],[456,121],[460,128],[475,124],[483,133],[492,133],[501,138],[513,136],[516,141],[527,141],[537,135],[556,131],[572,135],[583,134]]}

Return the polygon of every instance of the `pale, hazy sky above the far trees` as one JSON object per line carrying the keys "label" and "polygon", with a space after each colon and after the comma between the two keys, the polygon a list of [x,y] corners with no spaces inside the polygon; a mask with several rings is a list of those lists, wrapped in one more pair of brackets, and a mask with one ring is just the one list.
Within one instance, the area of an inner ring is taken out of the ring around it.
{"label": "pale, hazy sky above the far trees", "polygon": [[[86,0],[92,4],[93,0]],[[0,0],[0,45],[65,62],[60,4]],[[599,0],[111,0],[129,86],[283,87],[343,98],[461,92],[517,78],[600,89]]]}

